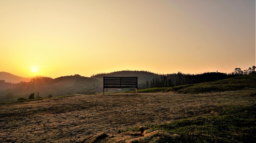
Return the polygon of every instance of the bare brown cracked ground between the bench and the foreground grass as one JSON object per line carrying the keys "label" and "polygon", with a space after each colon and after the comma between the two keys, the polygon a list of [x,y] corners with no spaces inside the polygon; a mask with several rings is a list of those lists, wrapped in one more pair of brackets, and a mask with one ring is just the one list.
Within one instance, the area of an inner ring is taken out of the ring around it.
{"label": "bare brown cracked ground between the bench and the foreground grass", "polygon": [[255,102],[243,91],[226,91],[77,95],[0,104],[0,142],[78,143],[101,132],[109,136],[126,128],[216,114],[213,110],[222,106]]}

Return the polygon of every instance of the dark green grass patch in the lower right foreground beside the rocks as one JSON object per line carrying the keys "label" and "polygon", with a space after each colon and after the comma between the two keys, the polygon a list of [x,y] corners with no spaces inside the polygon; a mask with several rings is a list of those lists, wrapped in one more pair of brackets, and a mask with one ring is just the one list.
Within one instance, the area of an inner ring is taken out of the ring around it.
{"label": "dark green grass patch in the lower right foreground beside the rocks", "polygon": [[[169,124],[146,125],[153,130],[180,134],[184,143],[254,143],[256,140],[256,105],[229,106],[215,116],[197,116]],[[139,131],[139,128],[127,130]],[[127,130],[123,130],[127,131]]]}

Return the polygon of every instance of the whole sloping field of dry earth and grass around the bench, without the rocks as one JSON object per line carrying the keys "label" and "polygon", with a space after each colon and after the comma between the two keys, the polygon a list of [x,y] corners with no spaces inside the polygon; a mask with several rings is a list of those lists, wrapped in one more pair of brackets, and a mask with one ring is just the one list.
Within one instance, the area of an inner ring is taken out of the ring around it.
{"label": "whole sloping field of dry earth and grass around the bench, without the rocks", "polygon": [[[143,93],[144,92],[144,93]],[[81,142],[139,126],[183,143],[254,143],[256,74],[135,93],[67,95],[0,104],[0,142]]]}

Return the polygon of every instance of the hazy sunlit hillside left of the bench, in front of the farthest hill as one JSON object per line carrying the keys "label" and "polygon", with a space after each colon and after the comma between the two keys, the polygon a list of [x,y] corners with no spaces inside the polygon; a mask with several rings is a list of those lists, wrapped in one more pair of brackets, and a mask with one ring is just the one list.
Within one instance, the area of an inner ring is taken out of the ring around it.
{"label": "hazy sunlit hillside left of the bench, in front of the farthest hill", "polygon": [[[59,78],[34,78],[30,82],[16,84],[5,83],[6,88],[0,88],[0,102],[17,101],[18,98],[28,98],[31,93],[46,98],[48,95],[63,96],[77,93],[95,93],[101,82],[96,78],[83,76],[63,76]],[[4,87],[4,86],[1,86]],[[9,97],[11,94],[11,97]]]}

